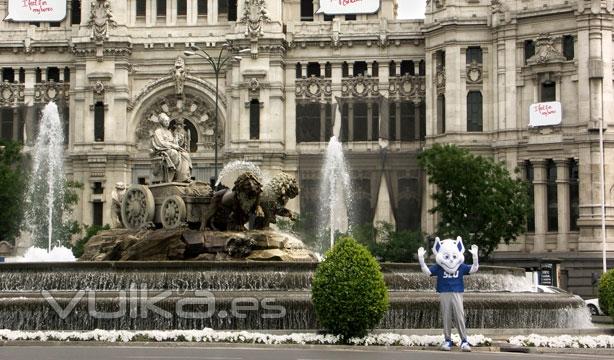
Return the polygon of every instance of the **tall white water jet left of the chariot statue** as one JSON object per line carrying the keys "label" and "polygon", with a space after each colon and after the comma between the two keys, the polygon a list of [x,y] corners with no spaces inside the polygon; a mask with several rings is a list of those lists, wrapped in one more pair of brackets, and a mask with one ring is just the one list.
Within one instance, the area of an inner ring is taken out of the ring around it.
{"label": "tall white water jet left of the chariot statue", "polygon": [[64,182],[64,130],[57,105],[49,102],[43,109],[33,148],[25,213],[25,228],[34,244],[42,245],[46,240],[48,252],[54,223],[62,217]]}

